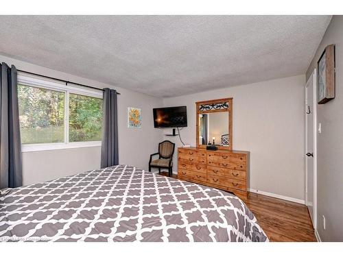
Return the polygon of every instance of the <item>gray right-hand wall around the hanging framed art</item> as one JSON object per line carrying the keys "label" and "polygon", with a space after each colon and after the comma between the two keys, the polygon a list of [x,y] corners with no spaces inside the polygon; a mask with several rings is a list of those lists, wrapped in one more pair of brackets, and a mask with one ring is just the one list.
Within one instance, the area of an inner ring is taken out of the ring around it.
{"label": "gray right-hand wall around the hanging framed art", "polygon": [[[333,16],[307,70],[314,71],[327,45],[335,44],[335,99],[317,105],[317,230],[322,241],[343,241],[343,16]],[[323,228],[322,216],[326,219]]]}

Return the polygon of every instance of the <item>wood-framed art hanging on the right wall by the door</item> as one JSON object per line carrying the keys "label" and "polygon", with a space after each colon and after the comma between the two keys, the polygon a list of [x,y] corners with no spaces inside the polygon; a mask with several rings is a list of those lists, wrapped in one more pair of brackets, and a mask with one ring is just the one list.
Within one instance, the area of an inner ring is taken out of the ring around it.
{"label": "wood-framed art hanging on the right wall by the door", "polygon": [[335,98],[335,45],[325,47],[318,60],[318,104]]}

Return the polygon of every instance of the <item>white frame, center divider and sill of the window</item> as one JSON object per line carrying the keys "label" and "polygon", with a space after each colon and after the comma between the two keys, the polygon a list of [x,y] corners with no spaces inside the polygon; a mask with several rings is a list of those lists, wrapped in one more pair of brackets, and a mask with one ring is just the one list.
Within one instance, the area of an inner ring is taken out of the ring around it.
{"label": "white frame, center divider and sill of the window", "polygon": [[85,142],[71,142],[69,143],[69,94],[84,95],[86,97],[96,97],[102,99],[102,92],[91,90],[88,88],[81,88],[71,83],[62,84],[62,82],[53,82],[45,79],[38,79],[36,77],[28,77],[18,75],[18,84],[24,86],[34,86],[36,88],[45,88],[64,93],[64,142],[63,143],[36,143],[36,144],[22,144],[21,151],[51,151],[58,149],[71,149],[80,147],[100,147],[102,141],[85,141]]}

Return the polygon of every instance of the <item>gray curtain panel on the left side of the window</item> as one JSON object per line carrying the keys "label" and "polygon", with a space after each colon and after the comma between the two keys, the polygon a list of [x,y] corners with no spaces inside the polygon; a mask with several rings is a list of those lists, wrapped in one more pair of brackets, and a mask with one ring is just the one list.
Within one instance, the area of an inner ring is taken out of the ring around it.
{"label": "gray curtain panel on the left side of the window", "polygon": [[0,188],[22,186],[16,67],[0,64]]}

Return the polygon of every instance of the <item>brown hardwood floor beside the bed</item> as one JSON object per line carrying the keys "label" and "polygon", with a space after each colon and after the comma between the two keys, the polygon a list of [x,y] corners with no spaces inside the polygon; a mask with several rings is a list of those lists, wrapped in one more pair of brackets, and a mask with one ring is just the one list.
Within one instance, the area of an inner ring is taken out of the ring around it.
{"label": "brown hardwood floor beside the bed", "polygon": [[249,193],[245,203],[270,241],[316,242],[307,206],[257,193]]}

